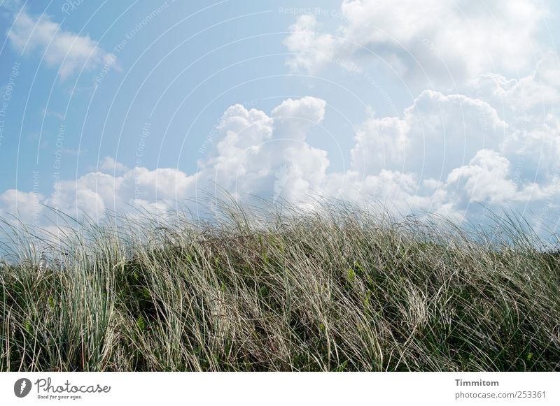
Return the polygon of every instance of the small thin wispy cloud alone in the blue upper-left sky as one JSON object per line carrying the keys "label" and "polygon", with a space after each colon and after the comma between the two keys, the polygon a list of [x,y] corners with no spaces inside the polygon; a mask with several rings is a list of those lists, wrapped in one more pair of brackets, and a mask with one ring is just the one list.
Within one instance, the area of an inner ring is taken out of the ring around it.
{"label": "small thin wispy cloud alone in the blue upper-left sky", "polygon": [[62,80],[82,68],[92,69],[115,60],[115,55],[103,50],[90,36],[68,31],[48,15],[29,15],[25,8],[15,15],[8,38],[13,47],[25,55],[42,54],[48,66],[59,68]]}

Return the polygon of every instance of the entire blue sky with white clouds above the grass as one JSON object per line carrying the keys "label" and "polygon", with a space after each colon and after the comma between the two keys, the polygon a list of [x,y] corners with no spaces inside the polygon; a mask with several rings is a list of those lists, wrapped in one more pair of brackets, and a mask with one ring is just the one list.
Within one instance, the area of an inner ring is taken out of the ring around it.
{"label": "entire blue sky with white clouds above the grass", "polygon": [[[547,0],[0,0],[0,217],[227,191],[556,233]],[[188,202],[188,203],[185,203]]]}

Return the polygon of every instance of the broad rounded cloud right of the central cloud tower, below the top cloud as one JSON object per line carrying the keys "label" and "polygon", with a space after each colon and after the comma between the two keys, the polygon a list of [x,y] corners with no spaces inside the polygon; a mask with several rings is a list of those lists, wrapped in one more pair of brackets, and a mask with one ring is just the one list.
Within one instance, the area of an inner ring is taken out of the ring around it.
{"label": "broad rounded cloud right of the central cloud tower, below the top cloud", "polygon": [[483,148],[498,148],[507,124],[488,103],[426,90],[402,118],[368,119],[356,136],[352,167],[441,179]]}

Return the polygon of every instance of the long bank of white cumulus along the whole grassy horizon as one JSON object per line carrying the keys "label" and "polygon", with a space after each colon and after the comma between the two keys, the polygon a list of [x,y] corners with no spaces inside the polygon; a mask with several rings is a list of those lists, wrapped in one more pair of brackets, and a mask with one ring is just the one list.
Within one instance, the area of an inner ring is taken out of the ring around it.
{"label": "long bank of white cumulus along the whole grassy horizon", "polygon": [[[370,117],[357,126],[346,171],[330,170],[327,152],[309,143],[326,103],[307,96],[286,99],[270,113],[239,104],[228,108],[214,152],[195,173],[126,168],[107,157],[101,172],[59,182],[41,199],[95,218],[107,209],[165,211],[219,186],[240,199],[283,198],[301,205],[318,196],[373,199],[401,213],[455,219],[468,217],[478,202],[530,210],[544,221],[560,198],[558,69],[543,59],[520,80],[481,75],[467,94],[421,92],[401,115]],[[536,96],[521,103],[535,89],[540,103]],[[13,212],[14,201],[20,207],[32,198],[7,191],[0,210]]]}

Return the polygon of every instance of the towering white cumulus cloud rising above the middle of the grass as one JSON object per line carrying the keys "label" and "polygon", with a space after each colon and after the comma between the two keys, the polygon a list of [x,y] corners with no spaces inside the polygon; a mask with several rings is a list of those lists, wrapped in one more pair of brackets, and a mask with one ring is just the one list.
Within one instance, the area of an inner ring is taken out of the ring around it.
{"label": "towering white cumulus cloud rising above the middle of the grass", "polygon": [[[234,194],[303,198],[321,184],[328,167],[326,152],[305,140],[324,114],[325,101],[314,97],[287,99],[270,116],[232,106],[221,119],[218,156],[202,164],[198,184],[215,182]],[[281,191],[280,184],[286,184]]]}

